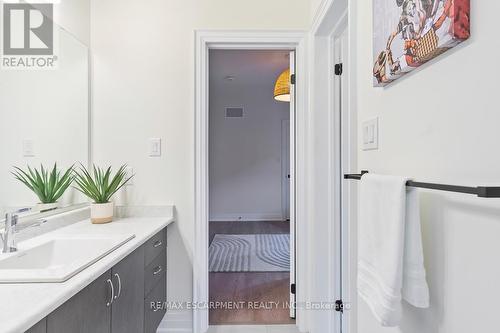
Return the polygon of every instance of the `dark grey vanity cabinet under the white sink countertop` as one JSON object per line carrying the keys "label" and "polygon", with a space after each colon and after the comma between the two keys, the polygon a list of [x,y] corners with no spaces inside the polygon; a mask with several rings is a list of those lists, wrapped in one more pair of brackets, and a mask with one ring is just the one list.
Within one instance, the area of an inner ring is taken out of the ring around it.
{"label": "dark grey vanity cabinet under the white sink countertop", "polygon": [[166,251],[162,230],[27,333],[156,332],[166,312]]}

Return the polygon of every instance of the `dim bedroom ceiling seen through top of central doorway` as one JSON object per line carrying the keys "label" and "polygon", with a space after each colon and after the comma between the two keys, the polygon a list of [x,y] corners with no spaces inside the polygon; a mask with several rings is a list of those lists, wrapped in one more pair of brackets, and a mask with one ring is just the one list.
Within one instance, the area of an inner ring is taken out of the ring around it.
{"label": "dim bedroom ceiling seen through top of central doorway", "polygon": [[[289,67],[286,50],[210,50],[210,85],[274,85]],[[226,77],[234,77],[228,81]]]}

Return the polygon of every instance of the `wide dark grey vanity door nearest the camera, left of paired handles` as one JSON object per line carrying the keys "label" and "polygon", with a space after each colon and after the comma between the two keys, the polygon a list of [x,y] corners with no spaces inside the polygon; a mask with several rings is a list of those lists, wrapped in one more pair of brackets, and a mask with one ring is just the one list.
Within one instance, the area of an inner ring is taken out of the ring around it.
{"label": "wide dark grey vanity door nearest the camera, left of paired handles", "polygon": [[111,297],[108,271],[47,317],[48,333],[110,333]]}

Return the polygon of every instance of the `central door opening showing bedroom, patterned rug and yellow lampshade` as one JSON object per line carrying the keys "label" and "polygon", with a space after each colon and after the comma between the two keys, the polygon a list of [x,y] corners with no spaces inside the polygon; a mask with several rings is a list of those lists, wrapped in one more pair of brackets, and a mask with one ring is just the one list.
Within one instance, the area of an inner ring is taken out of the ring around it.
{"label": "central door opening showing bedroom, patterned rug and yellow lampshade", "polygon": [[295,53],[208,52],[210,325],[295,323]]}

